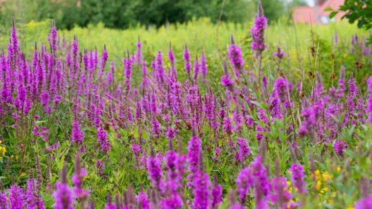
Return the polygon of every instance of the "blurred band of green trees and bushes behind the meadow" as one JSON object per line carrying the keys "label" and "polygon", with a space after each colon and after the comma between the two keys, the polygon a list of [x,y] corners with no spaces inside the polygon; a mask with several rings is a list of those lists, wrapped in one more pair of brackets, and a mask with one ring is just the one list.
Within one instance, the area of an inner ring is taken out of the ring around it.
{"label": "blurred band of green trees and bushes behind the meadow", "polygon": [[[290,16],[291,8],[305,5],[305,0],[265,0],[262,4],[273,21]],[[99,22],[106,28],[126,29],[137,24],[183,23],[193,17],[209,17],[216,23],[221,9],[221,21],[241,23],[254,16],[257,0],[2,0],[0,8],[1,31],[9,28],[12,16],[19,23],[55,19],[59,29]]]}

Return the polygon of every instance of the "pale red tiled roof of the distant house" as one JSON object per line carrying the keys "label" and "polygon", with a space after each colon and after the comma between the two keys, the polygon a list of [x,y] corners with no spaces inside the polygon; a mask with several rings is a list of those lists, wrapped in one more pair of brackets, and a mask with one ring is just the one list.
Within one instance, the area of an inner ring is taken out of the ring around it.
{"label": "pale red tiled roof of the distant house", "polygon": [[[311,17],[312,23],[319,22],[320,16],[329,16],[331,14],[331,12],[325,12],[324,11],[325,9],[332,8],[333,10],[337,10],[341,5],[343,5],[344,2],[345,0],[325,1],[323,4],[319,5],[318,17],[316,17],[314,7],[306,7],[306,6],[295,7],[292,13],[293,21],[310,23],[310,17]],[[340,19],[344,14],[345,12],[339,12],[335,16],[335,18]]]}

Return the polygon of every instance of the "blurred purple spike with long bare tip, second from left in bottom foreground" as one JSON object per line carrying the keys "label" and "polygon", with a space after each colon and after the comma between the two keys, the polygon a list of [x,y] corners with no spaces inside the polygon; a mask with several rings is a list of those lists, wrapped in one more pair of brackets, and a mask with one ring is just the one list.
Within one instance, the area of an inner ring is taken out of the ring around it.
{"label": "blurred purple spike with long bare tip, second from left in bottom foreground", "polygon": [[87,197],[89,197],[89,192],[83,189],[83,181],[84,177],[87,175],[85,168],[81,167],[80,163],[80,154],[79,152],[75,155],[75,173],[72,176],[72,182],[75,185],[74,187],[74,195],[75,197],[81,199],[81,201],[85,201]]}

